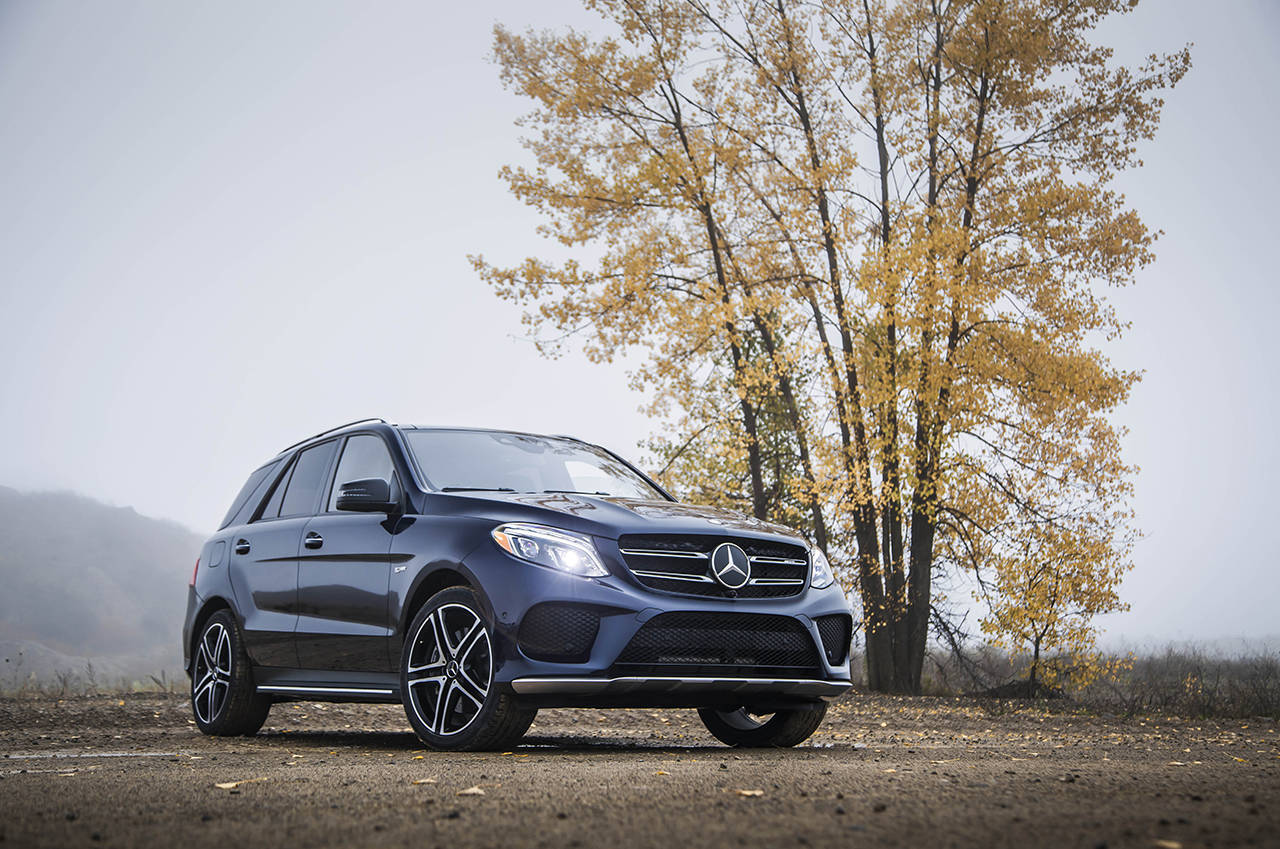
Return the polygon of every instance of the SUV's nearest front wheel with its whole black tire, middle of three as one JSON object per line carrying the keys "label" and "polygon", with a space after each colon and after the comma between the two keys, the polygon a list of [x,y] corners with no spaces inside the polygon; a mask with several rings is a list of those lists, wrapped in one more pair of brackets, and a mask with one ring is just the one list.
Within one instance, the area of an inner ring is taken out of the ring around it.
{"label": "SUV's nearest front wheel with its whole black tire, middle of three", "polygon": [[404,715],[433,749],[506,749],[538,716],[494,686],[493,629],[467,586],[451,586],[422,604],[399,668]]}

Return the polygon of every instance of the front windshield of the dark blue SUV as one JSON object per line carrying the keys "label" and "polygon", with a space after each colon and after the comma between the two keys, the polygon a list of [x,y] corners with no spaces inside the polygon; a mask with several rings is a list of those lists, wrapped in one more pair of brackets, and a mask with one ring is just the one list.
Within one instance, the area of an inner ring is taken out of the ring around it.
{"label": "front windshield of the dark blue SUV", "polygon": [[484,430],[404,430],[426,481],[444,492],[572,492],[663,499],[599,448],[550,437]]}

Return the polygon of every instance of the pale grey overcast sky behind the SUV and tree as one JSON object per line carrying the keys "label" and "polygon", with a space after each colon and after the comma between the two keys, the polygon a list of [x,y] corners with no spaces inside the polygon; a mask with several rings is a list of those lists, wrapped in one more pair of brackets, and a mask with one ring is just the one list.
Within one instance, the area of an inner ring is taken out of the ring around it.
{"label": "pale grey overcast sky behind the SUV and tree", "polygon": [[[209,530],[247,473],[365,415],[572,433],[632,458],[623,366],[550,362],[466,260],[543,250],[494,22],[576,3],[0,0],[0,484]],[[1116,296],[1144,540],[1130,642],[1276,634],[1280,5],[1146,0],[1194,41],[1123,187],[1165,232]]]}

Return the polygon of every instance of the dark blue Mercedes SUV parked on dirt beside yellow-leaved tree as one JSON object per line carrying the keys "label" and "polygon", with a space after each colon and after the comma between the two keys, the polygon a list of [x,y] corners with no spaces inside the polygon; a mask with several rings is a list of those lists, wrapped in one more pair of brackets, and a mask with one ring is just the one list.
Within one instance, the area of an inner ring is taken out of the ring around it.
{"label": "dark blue Mercedes SUV parked on dirt beside yellow-leaved tree", "polygon": [[402,702],[439,749],[512,745],[540,707],[694,707],[795,745],[849,689],[852,616],[820,549],[682,505],[567,437],[317,434],[250,475],[183,625],[200,730],[274,702]]}

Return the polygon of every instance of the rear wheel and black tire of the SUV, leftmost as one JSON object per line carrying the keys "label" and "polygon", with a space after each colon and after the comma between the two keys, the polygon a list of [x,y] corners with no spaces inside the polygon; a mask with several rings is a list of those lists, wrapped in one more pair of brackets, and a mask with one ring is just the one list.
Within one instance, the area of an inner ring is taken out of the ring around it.
{"label": "rear wheel and black tire of the SUV, leftmost", "polygon": [[191,653],[191,712],[211,736],[250,736],[266,722],[271,699],[257,691],[244,636],[230,611],[205,621]]}

